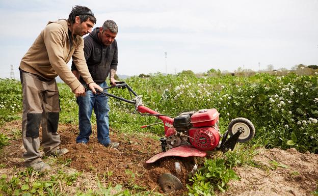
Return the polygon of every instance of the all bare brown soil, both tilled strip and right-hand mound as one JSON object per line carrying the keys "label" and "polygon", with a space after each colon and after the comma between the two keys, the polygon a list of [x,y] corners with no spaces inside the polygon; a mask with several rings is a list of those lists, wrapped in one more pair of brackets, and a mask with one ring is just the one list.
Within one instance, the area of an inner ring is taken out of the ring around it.
{"label": "all bare brown soil, both tilled strip and right-hand mound", "polygon": [[[5,146],[0,154],[0,164],[6,166],[0,169],[0,175],[10,175],[14,168],[23,170],[23,145],[20,136],[15,132],[20,130],[21,122],[6,123],[0,130],[10,138],[11,145]],[[96,174],[103,176],[104,184],[121,184],[125,188],[136,185],[143,190],[163,192],[158,185],[161,174],[170,173],[177,176],[183,184],[183,189],[169,195],[187,194],[186,184],[190,183],[188,174],[194,165],[193,158],[166,157],[155,163],[145,163],[153,155],[161,152],[160,142],[151,134],[125,134],[111,130],[113,142],[119,142],[118,149],[100,145],[96,138],[96,127],[88,144],[76,144],[77,125],[60,124],[60,148],[67,148],[69,153],[61,157],[71,160],[68,170],[83,172],[86,180],[77,182],[75,187],[65,187],[71,193],[78,186],[89,186],[96,180]],[[40,136],[41,138],[41,136]],[[241,178],[230,181],[229,189],[217,195],[312,195],[318,184],[318,155],[300,153],[296,149],[258,149],[254,161],[259,167],[241,166],[234,171]],[[181,172],[176,172],[175,162],[180,163]],[[199,161],[202,162],[202,161]],[[274,163],[277,163],[276,166]],[[199,165],[200,166],[200,165]],[[93,186],[93,185],[91,185]]]}

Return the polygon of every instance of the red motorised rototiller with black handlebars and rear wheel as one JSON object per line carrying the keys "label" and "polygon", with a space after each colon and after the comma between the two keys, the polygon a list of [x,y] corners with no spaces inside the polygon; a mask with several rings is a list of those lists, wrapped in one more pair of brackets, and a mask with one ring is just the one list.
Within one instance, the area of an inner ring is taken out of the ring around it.
{"label": "red motorised rototiller with black handlebars and rear wheel", "polygon": [[[220,114],[215,108],[189,111],[181,113],[175,118],[170,118],[144,106],[142,96],[138,96],[123,81],[104,89],[114,87],[128,89],[132,100],[118,97],[105,91],[97,91],[106,96],[134,104],[134,113],[138,111],[141,114],[155,116],[164,123],[165,136],[160,139],[163,152],[154,155],[146,163],[153,163],[167,156],[204,157],[209,151],[221,150],[226,152],[230,149],[233,150],[237,142],[246,143],[254,137],[254,125],[248,119],[233,119],[228,125],[228,130],[222,135],[219,129]],[[149,125],[142,126],[142,128],[147,126]],[[197,166],[195,165],[192,173],[196,171],[196,168]],[[176,163],[176,170],[180,170],[179,163]],[[163,174],[159,179],[159,184],[165,192],[172,192],[182,188],[180,180],[171,174]]]}

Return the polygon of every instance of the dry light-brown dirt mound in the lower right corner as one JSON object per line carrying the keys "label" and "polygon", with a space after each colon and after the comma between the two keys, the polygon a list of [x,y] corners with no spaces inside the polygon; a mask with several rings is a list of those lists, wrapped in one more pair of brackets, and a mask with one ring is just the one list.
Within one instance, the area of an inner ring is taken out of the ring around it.
{"label": "dry light-brown dirt mound in the lower right corner", "polygon": [[312,195],[318,184],[318,155],[288,150],[260,149],[256,167],[237,167],[240,181],[220,195]]}

